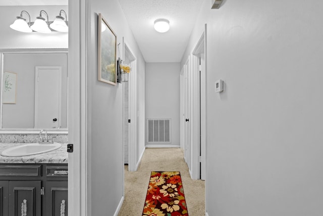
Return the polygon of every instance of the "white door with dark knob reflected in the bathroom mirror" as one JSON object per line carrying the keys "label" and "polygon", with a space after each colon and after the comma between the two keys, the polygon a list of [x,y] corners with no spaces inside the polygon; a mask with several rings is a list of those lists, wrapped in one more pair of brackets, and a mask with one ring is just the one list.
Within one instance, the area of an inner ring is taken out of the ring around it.
{"label": "white door with dark knob reflected in the bathroom mirror", "polygon": [[35,70],[35,128],[59,128],[62,67],[37,66]]}

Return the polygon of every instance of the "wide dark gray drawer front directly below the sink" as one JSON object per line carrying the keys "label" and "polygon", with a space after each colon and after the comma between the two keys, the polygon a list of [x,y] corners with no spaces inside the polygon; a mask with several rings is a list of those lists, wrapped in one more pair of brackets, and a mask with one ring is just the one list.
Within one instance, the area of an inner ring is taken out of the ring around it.
{"label": "wide dark gray drawer front directly below the sink", "polygon": [[41,165],[0,165],[0,177],[41,177]]}

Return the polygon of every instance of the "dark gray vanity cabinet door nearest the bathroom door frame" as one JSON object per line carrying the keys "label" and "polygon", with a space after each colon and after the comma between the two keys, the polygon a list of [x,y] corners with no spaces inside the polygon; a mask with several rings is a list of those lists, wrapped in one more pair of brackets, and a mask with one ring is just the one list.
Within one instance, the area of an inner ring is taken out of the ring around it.
{"label": "dark gray vanity cabinet door nearest the bathroom door frame", "polygon": [[47,181],[45,184],[45,215],[68,216],[68,182]]}

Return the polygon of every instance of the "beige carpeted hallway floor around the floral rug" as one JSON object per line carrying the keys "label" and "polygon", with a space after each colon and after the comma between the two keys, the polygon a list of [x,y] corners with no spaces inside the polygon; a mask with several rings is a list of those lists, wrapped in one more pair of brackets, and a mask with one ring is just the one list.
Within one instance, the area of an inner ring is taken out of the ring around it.
{"label": "beige carpeted hallway floor around the floral rug", "polygon": [[138,170],[125,166],[125,200],[119,216],[141,216],[151,171],[180,171],[189,216],[205,215],[204,181],[192,180],[180,148],[147,148]]}

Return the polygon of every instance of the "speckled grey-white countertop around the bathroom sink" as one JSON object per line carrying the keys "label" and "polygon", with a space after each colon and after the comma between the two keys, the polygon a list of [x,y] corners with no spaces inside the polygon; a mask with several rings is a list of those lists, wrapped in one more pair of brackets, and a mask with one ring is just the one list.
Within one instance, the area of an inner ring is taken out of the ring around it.
{"label": "speckled grey-white countertop around the bathroom sink", "polygon": [[[0,143],[0,152],[3,150],[25,145],[27,143]],[[61,148],[42,154],[34,154],[23,157],[4,157],[0,155],[0,163],[68,163],[67,144],[62,144]]]}

